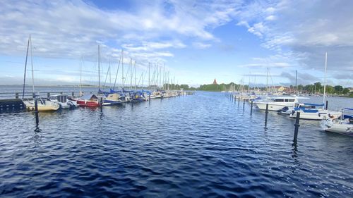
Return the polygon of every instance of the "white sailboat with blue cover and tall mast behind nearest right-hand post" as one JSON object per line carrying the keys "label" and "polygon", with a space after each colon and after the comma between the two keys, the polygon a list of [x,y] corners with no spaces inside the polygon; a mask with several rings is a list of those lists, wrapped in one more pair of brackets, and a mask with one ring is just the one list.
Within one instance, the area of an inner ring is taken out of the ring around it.
{"label": "white sailboat with blue cover and tall mast behind nearest right-hand post", "polygon": [[[326,73],[327,73],[327,62],[328,62],[328,53],[325,53],[325,77],[324,77],[324,85],[323,85],[323,104],[311,104],[311,106],[316,106],[316,108],[306,109],[304,108],[294,108],[293,113],[289,115],[290,118],[296,118],[297,113],[300,113],[299,118],[306,120],[324,120],[325,118],[338,118],[341,116],[341,112],[339,111],[328,111],[325,109],[325,95],[326,95]],[[321,107],[321,108],[318,108]]]}

